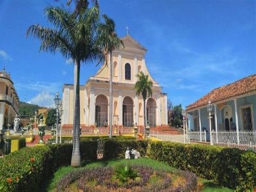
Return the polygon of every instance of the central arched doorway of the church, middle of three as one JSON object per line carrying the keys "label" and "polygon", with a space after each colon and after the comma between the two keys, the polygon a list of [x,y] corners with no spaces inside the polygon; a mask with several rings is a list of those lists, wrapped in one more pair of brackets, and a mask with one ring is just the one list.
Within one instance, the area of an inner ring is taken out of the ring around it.
{"label": "central arched doorway of the church, middle of three", "polygon": [[123,125],[132,127],[133,123],[133,100],[131,97],[125,97],[123,100]]}

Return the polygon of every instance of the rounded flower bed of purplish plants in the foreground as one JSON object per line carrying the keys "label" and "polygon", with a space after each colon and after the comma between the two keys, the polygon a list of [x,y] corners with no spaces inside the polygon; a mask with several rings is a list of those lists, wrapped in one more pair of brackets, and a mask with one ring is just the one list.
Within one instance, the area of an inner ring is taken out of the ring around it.
{"label": "rounded flower bed of purplish plants in the foreground", "polygon": [[[120,165],[118,168],[125,167]],[[117,169],[118,169],[117,168]],[[128,169],[128,168],[127,168]],[[112,167],[97,167],[73,171],[62,177],[57,184],[57,191],[193,191],[196,189],[196,176],[193,173],[180,171],[175,179],[184,182],[172,182],[172,174],[163,170],[154,170],[149,166],[133,165],[130,168],[138,173],[136,179],[121,182]],[[126,174],[126,176],[129,173]],[[174,184],[175,183],[175,184]]]}

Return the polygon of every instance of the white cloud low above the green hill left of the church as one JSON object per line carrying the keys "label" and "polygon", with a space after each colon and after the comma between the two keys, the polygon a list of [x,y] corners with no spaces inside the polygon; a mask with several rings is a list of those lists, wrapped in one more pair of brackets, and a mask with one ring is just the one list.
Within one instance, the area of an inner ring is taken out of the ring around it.
{"label": "white cloud low above the green hill left of the church", "polygon": [[49,92],[40,92],[38,95],[28,101],[30,104],[51,108],[54,107],[54,95]]}

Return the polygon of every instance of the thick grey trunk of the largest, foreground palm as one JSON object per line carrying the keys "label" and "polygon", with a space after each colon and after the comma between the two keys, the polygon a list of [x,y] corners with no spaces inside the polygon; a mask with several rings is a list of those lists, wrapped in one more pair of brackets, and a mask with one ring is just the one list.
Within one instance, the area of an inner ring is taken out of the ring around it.
{"label": "thick grey trunk of the largest, foreground palm", "polygon": [[71,166],[81,166],[80,156],[80,61],[74,63],[73,151]]}

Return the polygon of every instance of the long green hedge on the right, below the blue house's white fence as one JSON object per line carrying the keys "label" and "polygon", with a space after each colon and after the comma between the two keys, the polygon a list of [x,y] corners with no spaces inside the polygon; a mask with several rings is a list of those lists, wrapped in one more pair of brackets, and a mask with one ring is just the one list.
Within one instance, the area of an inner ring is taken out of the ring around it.
{"label": "long green hedge on the right, below the blue house's white fence", "polygon": [[150,143],[148,156],[238,191],[256,186],[255,152],[158,141]]}

